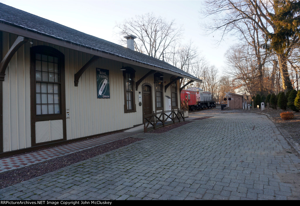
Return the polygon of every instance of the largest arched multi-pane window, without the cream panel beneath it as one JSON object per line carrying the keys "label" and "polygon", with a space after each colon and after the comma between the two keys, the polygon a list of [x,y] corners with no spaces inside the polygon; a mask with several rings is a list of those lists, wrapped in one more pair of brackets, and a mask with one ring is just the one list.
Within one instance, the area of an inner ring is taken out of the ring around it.
{"label": "largest arched multi-pane window, without the cream panel beneath it", "polygon": [[64,55],[49,46],[34,46],[31,48],[31,61],[35,117],[61,118],[64,115]]}

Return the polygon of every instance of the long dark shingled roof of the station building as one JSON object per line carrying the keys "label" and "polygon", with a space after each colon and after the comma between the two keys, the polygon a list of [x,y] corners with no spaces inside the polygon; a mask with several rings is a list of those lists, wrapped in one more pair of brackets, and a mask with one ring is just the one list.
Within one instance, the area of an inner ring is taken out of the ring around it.
{"label": "long dark shingled roof of the station building", "polygon": [[67,26],[58,24],[56,22],[44,19],[42,17],[16,9],[14,7],[10,7],[2,3],[0,3],[0,25],[1,24],[22,28],[26,31],[32,31],[37,34],[55,38],[64,42],[69,42],[74,45],[94,49],[99,51],[99,55],[101,52],[105,52],[109,55],[114,55],[124,59],[129,59],[131,61],[158,67],[160,69],[163,69],[166,73],[176,73],[178,76],[197,82],[202,82],[201,79],[183,70],[180,70],[179,68],[174,67],[173,65],[168,64],[165,61],[161,61],[146,54],[133,51],[107,40],[85,34],[73,28],[69,28]]}

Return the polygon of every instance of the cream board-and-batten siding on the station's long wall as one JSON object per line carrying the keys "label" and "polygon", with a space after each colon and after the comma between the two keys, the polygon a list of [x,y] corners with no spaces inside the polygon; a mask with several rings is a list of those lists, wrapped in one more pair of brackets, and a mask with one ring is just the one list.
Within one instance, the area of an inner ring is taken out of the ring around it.
{"label": "cream board-and-batten siding on the station's long wall", "polygon": [[[3,54],[5,55],[17,36],[3,32]],[[142,85],[152,85],[152,106],[155,111],[154,75],[148,76],[135,91],[137,112],[124,112],[124,79],[120,70],[122,62],[100,58],[88,67],[79,78],[78,87],[74,86],[74,74],[93,55],[68,49],[61,46],[31,40],[33,44],[25,43],[11,59],[3,82],[3,151],[14,151],[31,147],[30,130],[30,47],[51,46],[58,49],[65,56],[65,100],[66,109],[70,111],[70,118],[66,118],[67,140],[92,136],[116,130],[131,128],[143,123],[143,107],[139,106],[139,91]],[[87,48],[88,49],[88,48]],[[124,64],[132,67],[135,81],[143,77],[149,69],[136,65]],[[109,70],[110,99],[97,98],[96,68]],[[170,82],[172,75],[164,73],[164,83]],[[164,96],[171,97],[170,87]],[[180,93],[178,85],[178,107],[180,107]],[[63,111],[65,112],[65,111]],[[48,124],[51,128],[51,123]]]}

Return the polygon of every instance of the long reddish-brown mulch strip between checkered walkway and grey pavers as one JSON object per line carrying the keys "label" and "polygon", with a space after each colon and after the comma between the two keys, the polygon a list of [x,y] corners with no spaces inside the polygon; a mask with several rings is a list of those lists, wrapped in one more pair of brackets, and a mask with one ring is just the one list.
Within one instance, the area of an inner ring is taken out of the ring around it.
{"label": "long reddish-brown mulch strip between checkered walkway and grey pavers", "polygon": [[0,188],[5,188],[10,185],[14,185],[38,177],[40,175],[53,172],[71,164],[87,160],[89,158],[124,147],[126,145],[130,145],[140,140],[143,139],[128,137],[126,139],[120,139],[104,145],[99,145],[83,151],[75,152],[62,157],[57,157],[55,159],[48,160],[43,163],[38,163],[32,166],[27,166],[17,170],[13,170],[11,172],[2,173],[0,174]]}

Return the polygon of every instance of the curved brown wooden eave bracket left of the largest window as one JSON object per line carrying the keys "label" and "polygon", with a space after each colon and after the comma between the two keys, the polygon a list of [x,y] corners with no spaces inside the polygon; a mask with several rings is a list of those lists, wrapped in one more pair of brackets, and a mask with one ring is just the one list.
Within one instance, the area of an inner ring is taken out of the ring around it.
{"label": "curved brown wooden eave bracket left of the largest window", "polygon": [[18,36],[13,45],[10,47],[0,63],[0,81],[4,81],[5,70],[11,58],[13,58],[13,55],[16,53],[16,51],[26,42],[28,42],[28,38]]}

